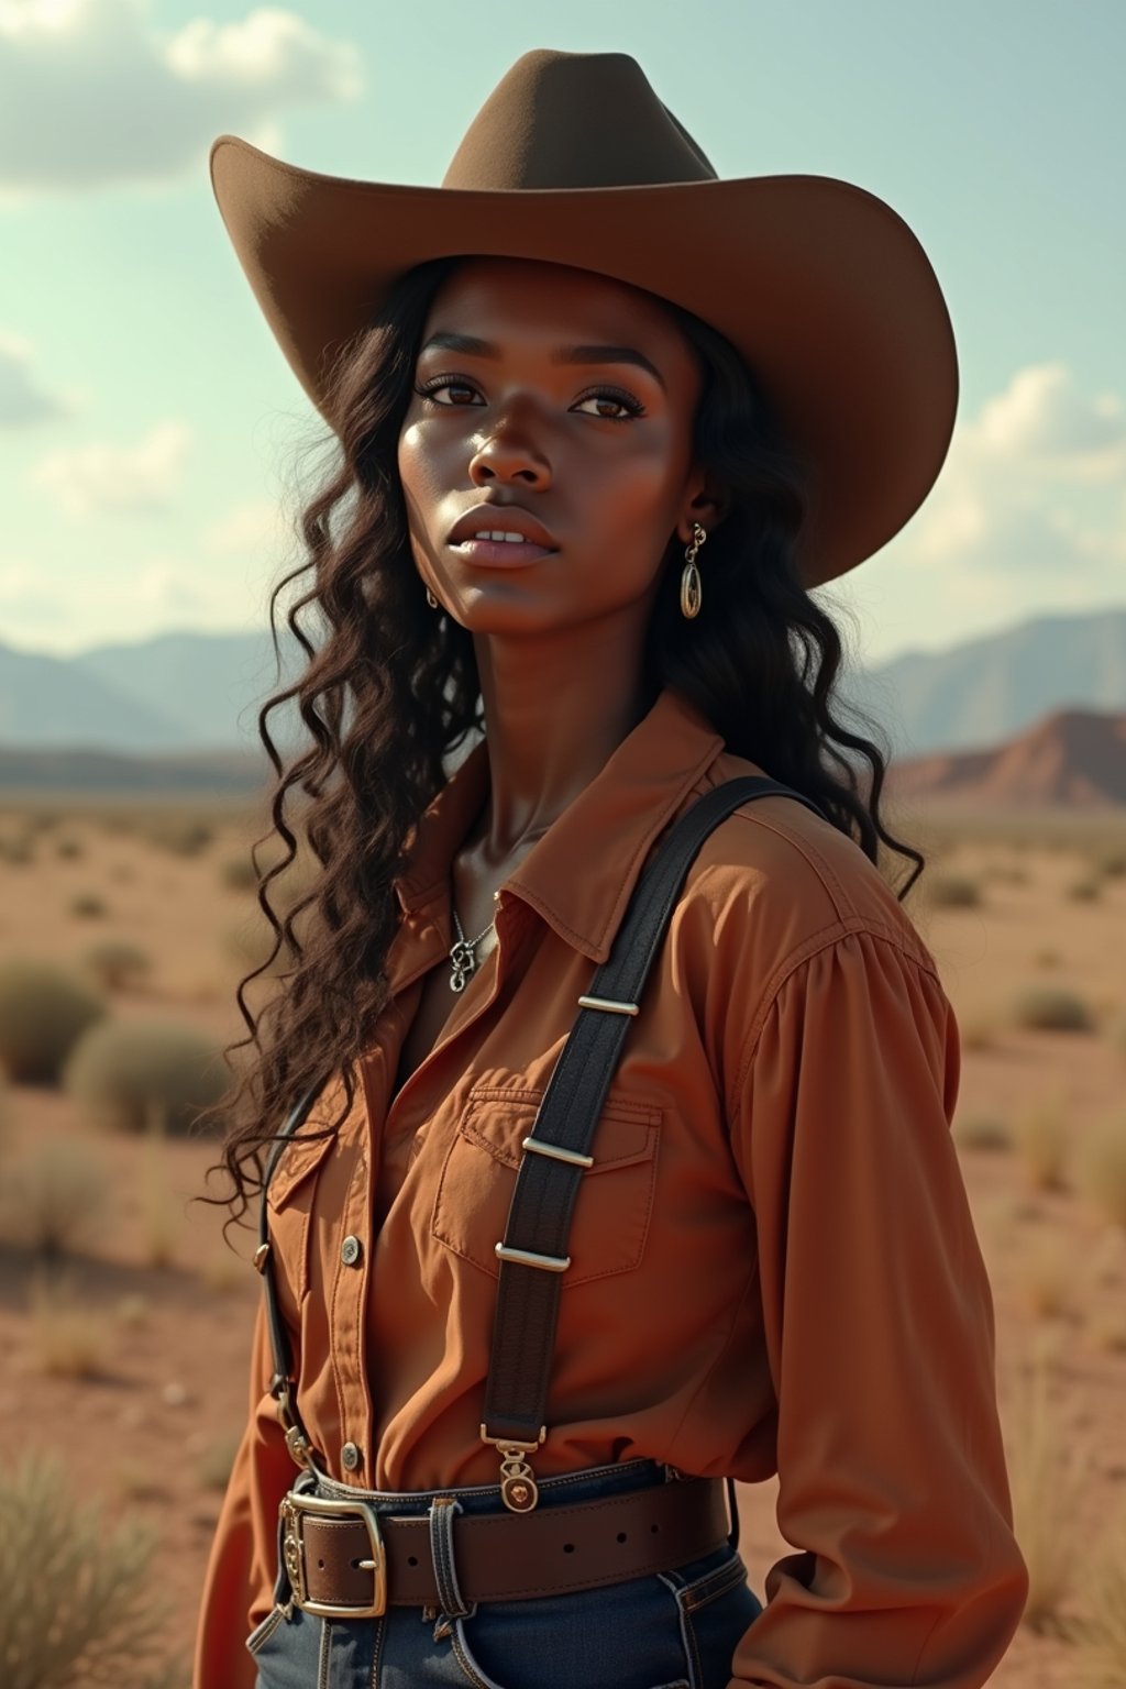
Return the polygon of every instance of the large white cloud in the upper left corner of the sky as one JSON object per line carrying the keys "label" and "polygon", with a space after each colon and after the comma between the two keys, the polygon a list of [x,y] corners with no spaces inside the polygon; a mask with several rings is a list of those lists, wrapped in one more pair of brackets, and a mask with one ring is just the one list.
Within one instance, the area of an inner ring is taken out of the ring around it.
{"label": "large white cloud in the upper left corner of the sky", "polygon": [[150,0],[0,0],[0,189],[172,181],[216,133],[277,145],[282,111],[360,86],[351,44],[277,7],[167,34]]}

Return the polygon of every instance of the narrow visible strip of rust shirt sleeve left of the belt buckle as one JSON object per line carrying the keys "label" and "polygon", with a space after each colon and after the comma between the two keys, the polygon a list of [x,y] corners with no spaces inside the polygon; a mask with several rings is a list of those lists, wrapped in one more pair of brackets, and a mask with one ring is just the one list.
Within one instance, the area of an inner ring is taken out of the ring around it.
{"label": "narrow visible strip of rust shirt sleeve left of the belt buckle", "polygon": [[260,1299],[250,1353],[250,1415],[204,1574],[192,1689],[255,1689],[257,1667],[245,1643],[273,1606],[277,1508],[297,1476],[268,1393],[272,1377],[265,1299]]}

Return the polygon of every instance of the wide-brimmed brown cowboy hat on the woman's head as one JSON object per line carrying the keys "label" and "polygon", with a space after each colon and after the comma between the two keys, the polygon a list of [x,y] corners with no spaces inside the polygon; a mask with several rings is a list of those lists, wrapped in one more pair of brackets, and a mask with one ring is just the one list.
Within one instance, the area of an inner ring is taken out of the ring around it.
{"label": "wide-brimmed brown cowboy hat on the woman's head", "polygon": [[719,181],[625,52],[525,52],[441,187],[302,171],[236,135],[211,147],[211,181],[267,323],[329,424],[329,361],[392,282],[427,258],[481,253],[645,287],[738,348],[807,466],[807,586],[885,546],[942,468],[954,334],[907,223],[826,176]]}

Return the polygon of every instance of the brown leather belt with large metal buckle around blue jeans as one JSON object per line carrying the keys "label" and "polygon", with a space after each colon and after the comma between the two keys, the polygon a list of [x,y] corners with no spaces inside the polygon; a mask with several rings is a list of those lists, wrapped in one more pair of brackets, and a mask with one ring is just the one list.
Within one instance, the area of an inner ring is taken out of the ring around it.
{"label": "brown leather belt with large metal buckle around blue jeans", "polygon": [[[425,1513],[395,1517],[363,1502],[290,1491],[284,1561],[294,1603],[329,1618],[439,1601]],[[533,1513],[457,1513],[457,1583],[466,1601],[525,1601],[670,1571],[726,1542],[721,1478],[679,1478],[598,1502]]]}

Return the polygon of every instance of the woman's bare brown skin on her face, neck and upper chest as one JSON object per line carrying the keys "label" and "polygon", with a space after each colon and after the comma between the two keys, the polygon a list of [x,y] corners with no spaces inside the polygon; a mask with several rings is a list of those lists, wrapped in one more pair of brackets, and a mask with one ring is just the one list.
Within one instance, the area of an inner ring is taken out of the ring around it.
{"label": "woman's bare brown skin on her face, neck and upper chest", "polygon": [[[436,333],[491,341],[498,356],[427,346]],[[491,796],[454,860],[454,905],[476,937],[495,888],[641,720],[665,547],[674,534],[685,546],[694,522],[711,530],[719,510],[690,453],[699,370],[648,294],[567,265],[469,258],[436,294],[420,346],[415,387],[447,385],[412,399],[398,475],[419,574],[473,632],[481,676]],[[633,348],[660,380],[623,360],[559,363],[557,346]],[[522,507],[557,549],[522,568],[468,561],[447,535],[481,503],[498,507],[485,524],[496,529],[505,505]],[[437,975],[400,1079],[449,1013]]]}

